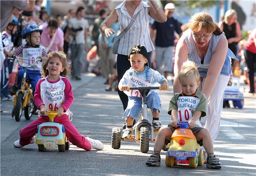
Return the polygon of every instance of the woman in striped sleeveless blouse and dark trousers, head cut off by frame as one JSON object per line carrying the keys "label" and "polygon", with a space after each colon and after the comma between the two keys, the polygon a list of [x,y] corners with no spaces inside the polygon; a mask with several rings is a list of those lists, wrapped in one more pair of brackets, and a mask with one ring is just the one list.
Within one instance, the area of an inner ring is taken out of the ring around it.
{"label": "woman in striped sleeveless blouse and dark trousers, head cut off by frame", "polygon": [[[149,2],[125,0],[100,25],[100,30],[108,37],[115,33],[110,26],[117,19],[119,20],[121,33],[113,39],[114,43],[112,46],[113,53],[117,54],[118,82],[131,66],[128,61],[128,52],[132,46],[140,44],[145,46],[148,52],[154,50],[154,45],[149,34],[150,17],[154,18],[157,22],[166,22],[167,20],[166,14],[154,0],[149,0]],[[150,63],[150,58],[148,58],[149,66]],[[128,97],[120,90],[118,90],[118,94],[125,110],[128,104]]]}

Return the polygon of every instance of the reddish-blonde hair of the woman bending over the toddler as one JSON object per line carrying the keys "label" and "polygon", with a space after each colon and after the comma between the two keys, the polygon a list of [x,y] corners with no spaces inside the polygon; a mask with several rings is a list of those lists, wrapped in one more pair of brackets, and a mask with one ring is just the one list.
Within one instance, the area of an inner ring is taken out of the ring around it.
{"label": "reddish-blonde hair of the woman bending over the toddler", "polygon": [[193,32],[199,32],[205,29],[207,33],[213,32],[216,36],[222,34],[218,24],[213,21],[212,16],[206,12],[198,12],[192,15],[188,22],[188,27]]}

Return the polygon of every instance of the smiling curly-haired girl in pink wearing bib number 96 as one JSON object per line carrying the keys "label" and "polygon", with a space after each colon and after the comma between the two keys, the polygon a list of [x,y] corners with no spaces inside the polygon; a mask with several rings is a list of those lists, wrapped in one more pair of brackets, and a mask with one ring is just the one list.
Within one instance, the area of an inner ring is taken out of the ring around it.
{"label": "smiling curly-haired girl in pink wearing bib number 96", "polygon": [[37,126],[43,122],[49,122],[46,111],[57,111],[58,117],[54,118],[54,122],[65,126],[66,136],[72,144],[87,151],[90,151],[91,147],[97,150],[103,149],[102,142],[82,136],[69,121],[71,113],[69,108],[74,99],[71,84],[66,78],[69,72],[70,63],[64,52],[54,51],[48,54],[48,60],[43,65],[45,77],[38,81],[34,93],[34,102],[41,115],[20,130],[20,139],[15,141],[14,147],[21,148],[35,143],[34,135],[37,133]]}

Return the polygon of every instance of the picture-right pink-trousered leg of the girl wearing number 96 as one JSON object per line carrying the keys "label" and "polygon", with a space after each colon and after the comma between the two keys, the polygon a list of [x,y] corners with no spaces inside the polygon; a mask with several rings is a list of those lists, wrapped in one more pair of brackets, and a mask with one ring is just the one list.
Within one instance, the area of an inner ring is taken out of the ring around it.
{"label": "picture-right pink-trousered leg of the girl wearing number 96", "polygon": [[54,122],[61,123],[65,126],[66,135],[68,140],[79,148],[83,148],[86,151],[90,151],[91,145],[83,135],[81,135],[72,122],[69,121],[67,116],[61,116],[54,119]]}

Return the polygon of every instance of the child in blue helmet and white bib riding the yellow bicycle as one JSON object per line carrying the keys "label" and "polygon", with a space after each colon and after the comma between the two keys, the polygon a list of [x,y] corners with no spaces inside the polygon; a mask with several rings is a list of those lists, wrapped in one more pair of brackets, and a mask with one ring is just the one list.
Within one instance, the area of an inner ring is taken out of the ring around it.
{"label": "child in blue helmet and white bib riding the yellow bicycle", "polygon": [[[23,58],[33,59],[33,60],[36,60],[38,59],[38,57],[41,57],[42,61],[46,61],[47,53],[44,47],[41,47],[39,45],[41,33],[42,33],[42,29],[40,29],[38,25],[27,25],[22,30],[22,33],[21,33],[22,38],[26,39],[26,44],[22,44],[17,49],[15,49],[14,54],[20,55]],[[23,60],[23,65],[31,65],[32,62],[31,60]],[[26,77],[27,79],[30,79],[33,94],[35,91],[35,86],[38,83],[38,80],[41,78],[41,67],[42,67],[41,62],[37,62],[33,67],[27,68]],[[20,89],[20,86],[21,86],[23,73],[24,73],[24,69],[20,67],[19,72],[17,74],[18,81],[16,86],[18,89]]]}

